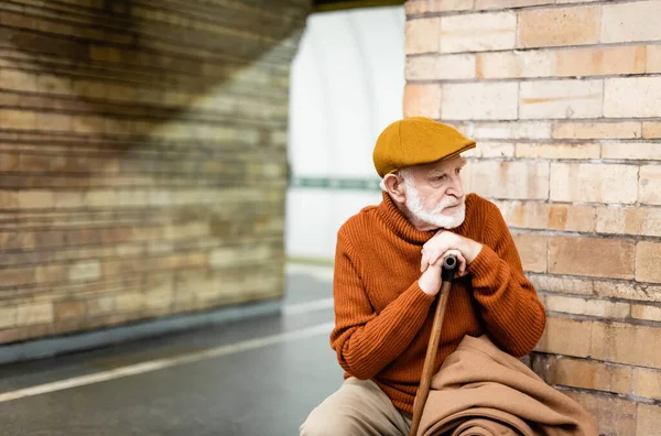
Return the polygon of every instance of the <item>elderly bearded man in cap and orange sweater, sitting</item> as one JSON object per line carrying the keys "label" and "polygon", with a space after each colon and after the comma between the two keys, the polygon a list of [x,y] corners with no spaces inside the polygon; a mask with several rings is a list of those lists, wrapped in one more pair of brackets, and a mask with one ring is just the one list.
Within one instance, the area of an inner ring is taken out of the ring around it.
{"label": "elderly bearded man in cap and orange sweater, sitting", "polygon": [[464,193],[460,154],[473,148],[426,118],[405,118],[380,134],[373,162],[382,201],[337,235],[330,345],[345,381],[312,411],[302,435],[408,435],[449,253],[459,269],[434,372],[466,335],[487,334],[516,357],[540,339],[544,308],[499,209]]}

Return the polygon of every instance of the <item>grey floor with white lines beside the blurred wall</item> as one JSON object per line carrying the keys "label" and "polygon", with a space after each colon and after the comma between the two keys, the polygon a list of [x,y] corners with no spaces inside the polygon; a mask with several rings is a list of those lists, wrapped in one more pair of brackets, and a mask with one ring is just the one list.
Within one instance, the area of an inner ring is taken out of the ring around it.
{"label": "grey floor with white lines beside the blurred wall", "polygon": [[330,296],[294,271],[279,315],[2,367],[0,434],[295,435],[342,383]]}

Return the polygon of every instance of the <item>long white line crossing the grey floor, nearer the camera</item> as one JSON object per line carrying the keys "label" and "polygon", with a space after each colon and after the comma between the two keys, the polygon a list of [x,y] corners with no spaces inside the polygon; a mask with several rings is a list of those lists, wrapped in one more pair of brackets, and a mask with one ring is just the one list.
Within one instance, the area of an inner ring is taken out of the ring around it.
{"label": "long white line crossing the grey floor, nearer the camera", "polygon": [[116,368],[113,370],[98,372],[95,374],[75,377],[72,379],[59,380],[52,383],[20,389],[18,391],[4,392],[0,394],[0,403],[18,399],[24,399],[28,396],[41,395],[50,392],[63,391],[72,388],[84,386],[87,384],[100,383],[108,380],[121,379],[123,377],[143,374],[145,372],[158,371],[163,368],[171,368],[185,363],[197,362],[201,360],[210,359],[219,356],[234,355],[240,351],[253,350],[256,348],[262,348],[273,344],[290,342],[293,340],[311,338],[318,335],[327,335],[333,329],[333,323],[317,324],[312,327],[301,328],[293,331],[266,336],[262,338],[251,340],[245,340],[242,342],[210,348],[208,350],[192,352],[175,358],[158,359],[148,362]]}

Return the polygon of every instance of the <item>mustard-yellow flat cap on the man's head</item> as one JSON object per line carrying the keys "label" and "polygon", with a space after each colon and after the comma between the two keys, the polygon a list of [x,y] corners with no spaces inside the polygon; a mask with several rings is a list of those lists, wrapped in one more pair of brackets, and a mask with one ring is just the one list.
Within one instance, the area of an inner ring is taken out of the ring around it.
{"label": "mustard-yellow flat cap on the man's head", "polygon": [[442,161],[475,148],[455,128],[431,118],[410,117],[388,126],[377,139],[372,159],[377,173]]}

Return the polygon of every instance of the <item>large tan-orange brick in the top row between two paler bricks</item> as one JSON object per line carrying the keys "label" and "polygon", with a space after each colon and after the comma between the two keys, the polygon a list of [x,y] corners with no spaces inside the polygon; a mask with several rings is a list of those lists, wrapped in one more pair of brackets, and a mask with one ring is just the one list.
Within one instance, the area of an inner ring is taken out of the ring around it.
{"label": "large tan-orange brick in the top row between two paler bricks", "polygon": [[598,7],[533,9],[519,12],[518,47],[596,44]]}

